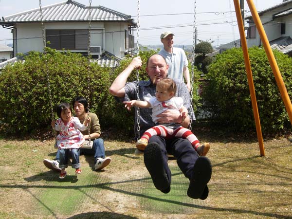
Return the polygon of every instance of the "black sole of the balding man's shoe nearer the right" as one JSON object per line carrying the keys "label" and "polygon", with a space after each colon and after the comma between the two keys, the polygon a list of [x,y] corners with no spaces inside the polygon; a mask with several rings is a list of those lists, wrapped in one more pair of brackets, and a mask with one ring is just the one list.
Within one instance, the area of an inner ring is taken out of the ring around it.
{"label": "black sole of the balding man's shoe nearer the right", "polygon": [[211,179],[211,175],[212,165],[210,160],[206,157],[199,157],[194,165],[193,176],[187,189],[188,197],[192,199],[200,199],[201,197],[206,199],[208,194],[204,195],[204,191]]}

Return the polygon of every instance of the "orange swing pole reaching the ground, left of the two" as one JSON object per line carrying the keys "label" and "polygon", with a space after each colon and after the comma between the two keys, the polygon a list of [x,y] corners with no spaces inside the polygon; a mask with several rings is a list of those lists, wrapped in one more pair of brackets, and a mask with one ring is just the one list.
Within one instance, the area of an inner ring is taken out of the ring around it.
{"label": "orange swing pole reaching the ground, left of the two", "polygon": [[254,86],[254,80],[253,80],[253,73],[252,73],[251,63],[250,63],[248,49],[247,49],[247,43],[246,43],[246,38],[245,38],[245,33],[244,33],[244,25],[243,25],[242,16],[241,16],[240,5],[239,5],[238,0],[233,0],[233,1],[234,1],[234,7],[236,11],[238,29],[239,29],[240,40],[241,40],[241,47],[242,47],[243,56],[244,56],[245,70],[246,70],[249,90],[251,94],[254,118],[256,122],[256,134],[257,134],[257,139],[258,139],[258,144],[259,144],[259,151],[260,151],[261,156],[265,156],[265,148],[264,148],[263,137],[262,137],[262,132],[261,132],[257,103],[256,103],[256,92],[255,92],[255,86]]}

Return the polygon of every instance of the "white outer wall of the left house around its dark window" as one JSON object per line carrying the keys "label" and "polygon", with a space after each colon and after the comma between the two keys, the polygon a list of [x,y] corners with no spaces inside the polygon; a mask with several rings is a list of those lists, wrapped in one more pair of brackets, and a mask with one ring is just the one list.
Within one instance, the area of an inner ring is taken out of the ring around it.
{"label": "white outer wall of the left house around its dark window", "polygon": [[[45,29],[88,29],[87,22],[72,23],[44,23]],[[43,52],[43,37],[40,23],[24,23],[16,25],[17,45],[16,53],[27,53],[35,50]],[[125,56],[125,29],[128,23],[91,23],[91,46],[101,46],[103,51],[108,51],[118,57]],[[72,51],[84,52],[84,51]]]}

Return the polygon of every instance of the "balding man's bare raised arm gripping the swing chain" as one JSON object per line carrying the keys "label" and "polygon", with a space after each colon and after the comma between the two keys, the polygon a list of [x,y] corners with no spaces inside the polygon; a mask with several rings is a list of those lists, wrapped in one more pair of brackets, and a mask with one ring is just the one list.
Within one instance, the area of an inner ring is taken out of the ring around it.
{"label": "balding man's bare raised arm gripping the swing chain", "polygon": [[125,85],[130,73],[135,69],[140,69],[142,67],[142,60],[140,56],[133,58],[128,67],[120,73],[116,79],[112,82],[110,86],[110,94],[117,97],[125,97]]}

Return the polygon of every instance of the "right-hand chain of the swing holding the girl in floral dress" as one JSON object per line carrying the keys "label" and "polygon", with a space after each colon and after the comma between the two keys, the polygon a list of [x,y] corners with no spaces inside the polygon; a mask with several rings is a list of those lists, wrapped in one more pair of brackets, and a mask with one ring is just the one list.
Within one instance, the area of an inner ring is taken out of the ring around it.
{"label": "right-hand chain of the swing holding the girl in floral dress", "polygon": [[[88,47],[87,47],[87,55],[88,55],[88,65],[87,65],[87,102],[88,102],[88,113],[87,118],[89,119],[89,112],[90,112],[90,59],[91,59],[91,53],[90,53],[90,44],[91,44],[91,0],[89,0],[89,26],[88,26]],[[91,137],[90,137],[90,124],[87,126],[88,129],[88,145],[90,145]]]}

